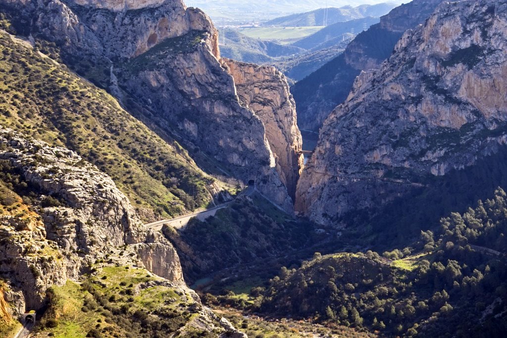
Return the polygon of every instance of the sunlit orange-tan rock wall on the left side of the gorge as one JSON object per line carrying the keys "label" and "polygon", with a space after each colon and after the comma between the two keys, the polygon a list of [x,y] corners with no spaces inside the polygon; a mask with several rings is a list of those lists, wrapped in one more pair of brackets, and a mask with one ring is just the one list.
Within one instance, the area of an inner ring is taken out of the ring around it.
{"label": "sunlit orange-tan rock wall on the left side of the gorge", "polygon": [[264,123],[278,174],[289,195],[295,199],[296,185],[303,169],[303,141],[287,79],[274,67],[224,60],[241,103],[255,111]]}

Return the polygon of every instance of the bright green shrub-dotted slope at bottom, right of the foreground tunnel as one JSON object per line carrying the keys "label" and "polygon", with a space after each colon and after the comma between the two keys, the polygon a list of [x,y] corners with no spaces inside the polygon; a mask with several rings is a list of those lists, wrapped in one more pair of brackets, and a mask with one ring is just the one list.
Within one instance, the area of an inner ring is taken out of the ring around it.
{"label": "bright green shrub-dotted slope at bottom, right of the foreground tunnel", "polygon": [[81,284],[52,287],[48,297],[39,330],[56,338],[210,334],[185,327],[198,316],[191,295],[144,269],[104,267]]}

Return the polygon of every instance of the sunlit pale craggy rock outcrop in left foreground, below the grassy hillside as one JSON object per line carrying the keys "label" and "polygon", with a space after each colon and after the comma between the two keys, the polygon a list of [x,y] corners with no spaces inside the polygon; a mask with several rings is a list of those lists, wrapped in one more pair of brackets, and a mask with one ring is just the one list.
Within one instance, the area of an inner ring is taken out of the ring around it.
{"label": "sunlit pale craggy rock outcrop in left foreground, below the grassy hillside", "polygon": [[144,229],[110,177],[68,149],[8,129],[0,129],[0,145],[0,159],[35,196],[28,205],[10,192],[12,206],[0,215],[0,273],[23,291],[27,308],[39,308],[48,287],[77,280],[104,257],[146,264],[184,285],[172,245]]}

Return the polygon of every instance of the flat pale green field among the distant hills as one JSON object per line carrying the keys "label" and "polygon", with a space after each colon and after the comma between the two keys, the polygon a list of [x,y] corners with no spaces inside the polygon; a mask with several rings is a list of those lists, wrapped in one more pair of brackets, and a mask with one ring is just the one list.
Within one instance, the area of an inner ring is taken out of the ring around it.
{"label": "flat pale green field among the distant hills", "polygon": [[239,31],[246,36],[261,40],[279,40],[290,41],[302,39],[311,35],[323,26],[312,27],[258,27],[258,28],[242,28]]}

